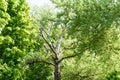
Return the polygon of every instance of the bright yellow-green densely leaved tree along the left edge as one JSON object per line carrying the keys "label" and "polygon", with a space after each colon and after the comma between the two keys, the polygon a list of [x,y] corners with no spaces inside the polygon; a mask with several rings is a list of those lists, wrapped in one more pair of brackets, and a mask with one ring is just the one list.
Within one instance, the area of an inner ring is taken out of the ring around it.
{"label": "bright yellow-green densely leaved tree along the left edge", "polygon": [[34,48],[35,27],[25,0],[0,0],[0,79],[20,79],[21,62]]}

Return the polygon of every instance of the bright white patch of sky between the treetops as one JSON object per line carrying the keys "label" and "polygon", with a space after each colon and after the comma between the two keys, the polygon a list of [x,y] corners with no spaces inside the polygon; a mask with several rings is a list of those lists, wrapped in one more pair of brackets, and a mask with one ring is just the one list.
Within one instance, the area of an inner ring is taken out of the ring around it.
{"label": "bright white patch of sky between the treetops", "polygon": [[43,6],[45,4],[52,5],[50,0],[27,0],[27,1],[30,3],[30,5],[32,5],[32,4],[35,4],[38,6]]}

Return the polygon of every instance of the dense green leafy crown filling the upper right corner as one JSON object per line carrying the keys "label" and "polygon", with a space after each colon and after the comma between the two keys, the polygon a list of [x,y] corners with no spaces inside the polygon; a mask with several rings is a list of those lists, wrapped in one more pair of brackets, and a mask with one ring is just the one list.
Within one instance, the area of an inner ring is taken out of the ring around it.
{"label": "dense green leafy crown filling the upper right corner", "polygon": [[60,12],[57,19],[69,36],[77,39],[78,51],[105,53],[119,38],[120,2],[112,0],[52,0]]}

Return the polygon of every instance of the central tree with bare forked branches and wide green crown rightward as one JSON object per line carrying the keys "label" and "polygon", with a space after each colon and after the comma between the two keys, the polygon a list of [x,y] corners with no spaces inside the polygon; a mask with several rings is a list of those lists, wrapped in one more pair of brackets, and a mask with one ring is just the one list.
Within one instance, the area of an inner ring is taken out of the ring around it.
{"label": "central tree with bare forked branches and wide green crown rightward", "polygon": [[[113,0],[52,0],[56,17],[40,20],[45,63],[54,67],[54,80],[60,80],[60,65],[65,59],[83,53],[98,55],[118,52],[120,2]],[[47,12],[45,13],[47,14]],[[70,51],[66,51],[70,50]],[[108,56],[108,57],[109,57]]]}

